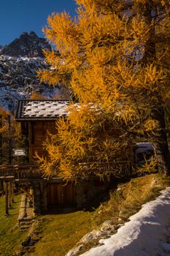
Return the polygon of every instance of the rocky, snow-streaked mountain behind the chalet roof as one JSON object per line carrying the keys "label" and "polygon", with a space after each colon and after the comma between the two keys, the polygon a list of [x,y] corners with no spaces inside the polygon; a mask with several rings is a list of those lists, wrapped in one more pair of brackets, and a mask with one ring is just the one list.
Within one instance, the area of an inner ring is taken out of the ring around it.
{"label": "rocky, snow-streaked mountain behind the chalet roof", "polygon": [[0,105],[5,109],[13,112],[18,99],[27,99],[32,92],[47,98],[58,94],[58,86],[40,83],[37,78],[39,69],[48,68],[42,56],[45,48],[50,50],[50,45],[34,32],[23,33],[19,39],[1,48]]}

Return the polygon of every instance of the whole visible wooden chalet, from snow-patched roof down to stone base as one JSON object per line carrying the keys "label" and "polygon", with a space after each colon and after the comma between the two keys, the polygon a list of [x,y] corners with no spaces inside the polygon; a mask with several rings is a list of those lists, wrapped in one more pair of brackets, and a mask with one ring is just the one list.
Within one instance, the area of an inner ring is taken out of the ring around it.
{"label": "whole visible wooden chalet, from snow-patched roof down to stone base", "polygon": [[[35,152],[45,155],[42,143],[47,138],[47,131],[55,133],[55,121],[61,116],[68,116],[68,101],[61,100],[19,100],[15,120],[20,122],[22,132],[28,139],[29,170],[27,175],[18,176],[16,182],[28,184],[32,189],[34,214],[50,210],[82,208],[96,193],[105,189],[106,184],[95,178],[75,184],[64,184],[61,178],[50,179],[40,173],[36,165]],[[26,172],[25,172],[26,174]]]}

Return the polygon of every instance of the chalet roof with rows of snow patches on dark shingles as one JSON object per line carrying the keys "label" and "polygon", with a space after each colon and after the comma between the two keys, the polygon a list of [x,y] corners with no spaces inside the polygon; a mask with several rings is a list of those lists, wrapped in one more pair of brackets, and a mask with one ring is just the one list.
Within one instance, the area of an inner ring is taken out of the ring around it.
{"label": "chalet roof with rows of snow patches on dark shingles", "polygon": [[68,105],[69,101],[66,100],[19,100],[15,120],[56,120],[60,116],[68,116]]}

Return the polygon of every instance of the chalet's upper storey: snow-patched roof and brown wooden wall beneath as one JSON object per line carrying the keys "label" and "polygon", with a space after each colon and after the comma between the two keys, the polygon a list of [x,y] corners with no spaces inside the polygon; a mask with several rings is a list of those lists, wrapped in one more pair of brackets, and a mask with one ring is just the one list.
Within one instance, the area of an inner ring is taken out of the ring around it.
{"label": "chalet's upper storey: snow-patched roof and brown wooden wall beneath", "polygon": [[19,100],[15,121],[19,121],[23,135],[28,140],[29,164],[34,165],[35,152],[45,154],[42,143],[47,138],[47,131],[54,134],[55,121],[67,116],[68,101],[58,100]]}

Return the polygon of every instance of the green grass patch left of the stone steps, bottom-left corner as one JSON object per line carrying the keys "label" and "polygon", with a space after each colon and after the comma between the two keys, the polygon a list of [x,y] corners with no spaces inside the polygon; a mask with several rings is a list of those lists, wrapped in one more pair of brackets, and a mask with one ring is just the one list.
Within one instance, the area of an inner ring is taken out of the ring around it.
{"label": "green grass patch left of the stone steps, bottom-left corner", "polygon": [[17,227],[18,212],[21,195],[15,196],[15,203],[9,209],[9,216],[5,216],[4,197],[0,197],[0,255],[12,256],[13,252],[20,246],[20,242],[26,237]]}

